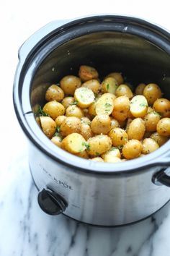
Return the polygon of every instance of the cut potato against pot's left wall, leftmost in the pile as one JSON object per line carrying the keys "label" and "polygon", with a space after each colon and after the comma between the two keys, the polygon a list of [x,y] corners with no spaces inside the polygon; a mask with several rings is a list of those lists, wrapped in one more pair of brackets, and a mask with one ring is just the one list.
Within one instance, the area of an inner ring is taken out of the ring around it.
{"label": "cut potato against pot's left wall, leftmost in the pile", "polygon": [[49,138],[53,137],[56,129],[55,121],[50,116],[40,116],[40,124],[42,132]]}

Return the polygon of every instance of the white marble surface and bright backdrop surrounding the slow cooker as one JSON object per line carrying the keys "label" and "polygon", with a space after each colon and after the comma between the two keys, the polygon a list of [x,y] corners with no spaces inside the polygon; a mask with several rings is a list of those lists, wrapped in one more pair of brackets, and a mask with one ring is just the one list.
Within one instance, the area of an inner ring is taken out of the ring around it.
{"label": "white marble surface and bright backdrop surrounding the slow cooker", "polygon": [[95,4],[89,0],[16,0],[1,4],[0,256],[170,255],[170,204],[146,221],[116,229],[86,226],[65,216],[47,216],[37,205],[27,140],[12,106],[17,49],[51,20],[104,12],[143,17],[170,30],[169,1],[105,0]]}

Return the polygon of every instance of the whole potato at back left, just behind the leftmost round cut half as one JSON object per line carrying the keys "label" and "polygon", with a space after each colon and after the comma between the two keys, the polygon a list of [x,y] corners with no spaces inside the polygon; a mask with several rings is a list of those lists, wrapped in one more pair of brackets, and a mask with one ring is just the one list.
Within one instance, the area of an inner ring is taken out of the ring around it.
{"label": "whole potato at back left, just behind the leftmost round cut half", "polygon": [[79,77],[76,77],[74,75],[66,75],[66,77],[62,78],[60,85],[64,93],[68,95],[73,95],[76,88],[81,87],[81,80]]}

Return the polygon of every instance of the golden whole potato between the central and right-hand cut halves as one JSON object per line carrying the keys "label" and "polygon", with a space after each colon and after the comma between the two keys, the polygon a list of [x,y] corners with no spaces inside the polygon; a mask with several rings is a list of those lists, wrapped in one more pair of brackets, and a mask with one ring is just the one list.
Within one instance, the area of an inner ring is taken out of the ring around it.
{"label": "golden whole potato between the central and right-hand cut halves", "polygon": [[112,116],[118,121],[125,121],[128,117],[130,101],[127,96],[120,96],[114,101]]}

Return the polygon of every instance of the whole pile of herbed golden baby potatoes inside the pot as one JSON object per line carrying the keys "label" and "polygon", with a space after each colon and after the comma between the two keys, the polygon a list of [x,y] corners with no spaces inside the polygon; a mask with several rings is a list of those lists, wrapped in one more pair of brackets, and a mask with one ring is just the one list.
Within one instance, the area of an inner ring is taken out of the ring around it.
{"label": "whole pile of herbed golden baby potatoes inside the pot", "polygon": [[50,85],[39,113],[42,131],[63,150],[92,161],[117,163],[152,153],[170,136],[170,101],[155,83],[133,93],[121,73],[100,82],[94,67]]}

